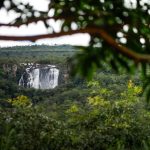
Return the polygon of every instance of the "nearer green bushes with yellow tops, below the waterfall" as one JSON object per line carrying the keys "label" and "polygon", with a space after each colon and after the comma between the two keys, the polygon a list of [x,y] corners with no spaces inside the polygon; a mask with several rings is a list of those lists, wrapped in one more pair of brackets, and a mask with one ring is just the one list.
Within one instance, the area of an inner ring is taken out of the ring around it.
{"label": "nearer green bushes with yellow tops, below the waterfall", "polygon": [[84,103],[77,98],[49,106],[31,105],[26,96],[8,100],[12,107],[0,110],[0,149],[149,149],[150,113],[139,96],[141,87],[129,81],[113,100],[113,92],[97,81],[87,88]]}

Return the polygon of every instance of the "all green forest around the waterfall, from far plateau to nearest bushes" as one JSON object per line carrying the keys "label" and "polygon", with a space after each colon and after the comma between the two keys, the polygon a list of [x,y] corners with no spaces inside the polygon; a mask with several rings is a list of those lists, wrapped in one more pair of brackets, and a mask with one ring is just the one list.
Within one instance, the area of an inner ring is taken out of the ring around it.
{"label": "all green forest around the waterfall, from far plateau to nearest bushes", "polygon": [[[64,80],[67,59],[76,52],[66,45],[0,49],[0,150],[149,149],[150,112],[141,80],[109,66],[90,81],[71,75]],[[25,62],[56,65],[58,86],[19,86]]]}

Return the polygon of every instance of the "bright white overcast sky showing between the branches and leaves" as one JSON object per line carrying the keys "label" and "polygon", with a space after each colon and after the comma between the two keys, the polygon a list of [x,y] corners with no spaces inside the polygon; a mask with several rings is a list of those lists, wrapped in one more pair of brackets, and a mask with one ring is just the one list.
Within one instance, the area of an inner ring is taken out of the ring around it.
{"label": "bright white overcast sky showing between the branches and leaves", "polygon": [[[30,2],[31,5],[34,6],[37,10],[47,10],[47,4],[49,0],[16,0],[22,1],[24,3]],[[136,7],[136,0],[125,0],[125,5],[129,5],[129,1],[133,2],[133,7]],[[141,0],[141,2],[149,1],[150,0]],[[51,12],[50,15],[52,15]],[[0,23],[9,23],[12,21],[16,16],[16,14],[11,11],[9,13],[6,12],[5,9],[0,10]],[[55,23],[54,21],[50,21],[50,24],[54,27],[55,31],[59,31],[59,23]],[[0,35],[15,35],[15,36],[23,36],[23,35],[37,35],[37,34],[46,34],[48,33],[47,29],[45,28],[42,22],[38,22],[37,24],[30,24],[29,26],[22,25],[19,28],[16,27],[0,27]],[[88,45],[90,37],[88,34],[76,34],[72,36],[65,36],[60,38],[54,39],[43,39],[38,40],[36,43],[31,42],[14,42],[14,41],[0,41],[0,47],[4,46],[14,46],[14,45],[29,45],[29,44],[71,44],[71,45]]]}

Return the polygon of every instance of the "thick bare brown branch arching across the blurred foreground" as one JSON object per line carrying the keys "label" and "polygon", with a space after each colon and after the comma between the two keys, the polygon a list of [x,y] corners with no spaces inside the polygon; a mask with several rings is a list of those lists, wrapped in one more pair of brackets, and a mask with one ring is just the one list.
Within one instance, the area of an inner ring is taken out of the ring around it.
{"label": "thick bare brown branch arching across the blurred foreground", "polygon": [[59,32],[59,33],[51,33],[51,34],[43,34],[43,35],[35,35],[35,36],[0,36],[0,40],[13,40],[13,41],[36,41],[38,39],[44,39],[44,38],[55,38],[65,35],[72,35],[77,33],[89,33],[89,34],[96,34],[100,36],[100,38],[103,38],[111,47],[112,50],[117,51],[118,53],[121,53],[128,58],[136,61],[136,62],[150,62],[150,55],[148,54],[140,54],[137,52],[134,52],[133,50],[128,49],[127,47],[118,44],[115,39],[110,36],[104,29],[102,28],[85,28],[85,29],[78,29],[78,30],[70,30],[68,32]]}

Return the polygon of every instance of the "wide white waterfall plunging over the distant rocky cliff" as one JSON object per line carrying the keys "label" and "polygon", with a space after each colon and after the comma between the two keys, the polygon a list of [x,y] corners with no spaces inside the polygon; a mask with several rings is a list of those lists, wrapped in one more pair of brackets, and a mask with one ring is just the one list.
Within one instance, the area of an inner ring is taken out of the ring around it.
{"label": "wide white waterfall plunging over the distant rocky cliff", "polygon": [[29,66],[19,80],[19,85],[35,89],[53,89],[58,85],[59,70],[52,65]]}

